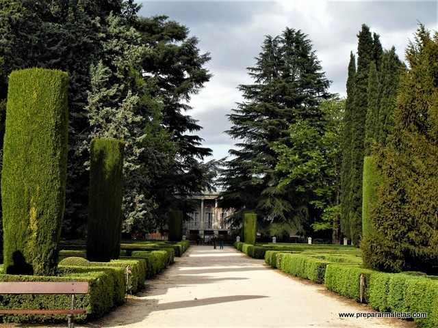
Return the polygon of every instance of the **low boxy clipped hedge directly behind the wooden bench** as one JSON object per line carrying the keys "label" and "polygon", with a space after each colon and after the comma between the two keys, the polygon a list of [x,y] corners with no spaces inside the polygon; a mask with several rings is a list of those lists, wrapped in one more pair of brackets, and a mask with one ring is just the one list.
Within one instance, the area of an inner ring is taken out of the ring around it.
{"label": "low boxy clipped hedge directly behind the wooden bench", "polygon": [[[68,273],[58,276],[36,275],[0,275],[0,282],[88,282],[89,292],[86,295],[75,296],[76,308],[86,308],[87,313],[75,316],[75,320],[83,322],[88,319],[100,318],[114,306],[113,279],[105,272]],[[1,309],[69,309],[70,295],[2,295]],[[2,315],[3,323],[47,323],[53,321],[65,322],[66,316],[42,315]]]}

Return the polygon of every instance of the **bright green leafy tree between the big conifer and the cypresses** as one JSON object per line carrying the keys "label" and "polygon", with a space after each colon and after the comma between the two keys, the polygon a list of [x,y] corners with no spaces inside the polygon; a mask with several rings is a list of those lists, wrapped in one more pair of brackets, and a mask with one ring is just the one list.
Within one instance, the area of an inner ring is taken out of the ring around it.
{"label": "bright green leafy tree between the big conifer and the cypresses", "polygon": [[298,120],[289,126],[287,142],[274,143],[279,156],[275,170],[281,177],[278,188],[287,187],[295,206],[313,213],[313,230],[333,228],[337,241],[344,101],[324,100],[318,109],[320,123]]}

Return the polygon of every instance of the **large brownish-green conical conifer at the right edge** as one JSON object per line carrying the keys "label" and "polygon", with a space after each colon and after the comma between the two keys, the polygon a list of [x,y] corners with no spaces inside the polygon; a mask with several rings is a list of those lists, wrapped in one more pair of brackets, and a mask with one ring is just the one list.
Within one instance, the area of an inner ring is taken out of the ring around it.
{"label": "large brownish-green conical conifer at the right edge", "polygon": [[375,269],[438,272],[437,58],[437,33],[420,25],[407,49],[410,70],[400,80],[394,133],[376,152],[382,183],[375,234],[361,246]]}

